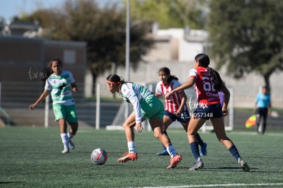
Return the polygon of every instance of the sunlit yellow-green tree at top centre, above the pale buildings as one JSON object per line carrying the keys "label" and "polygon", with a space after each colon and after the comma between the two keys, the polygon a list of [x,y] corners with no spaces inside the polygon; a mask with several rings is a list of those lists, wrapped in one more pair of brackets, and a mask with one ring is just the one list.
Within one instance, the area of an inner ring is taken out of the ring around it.
{"label": "sunlit yellow-green tree at top centre, above the pale buildings", "polygon": [[161,29],[172,27],[203,29],[206,23],[205,0],[137,0],[131,14],[146,21],[157,21]]}

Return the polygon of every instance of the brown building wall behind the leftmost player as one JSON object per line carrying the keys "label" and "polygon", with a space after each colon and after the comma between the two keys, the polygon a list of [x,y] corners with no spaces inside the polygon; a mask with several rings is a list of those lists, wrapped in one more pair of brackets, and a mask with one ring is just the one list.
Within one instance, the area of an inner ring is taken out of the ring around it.
{"label": "brown building wall behind the leftmost player", "polygon": [[0,51],[0,81],[40,80],[40,73],[48,62],[59,57],[64,69],[72,71],[78,82],[84,82],[87,62],[85,42],[0,37]]}

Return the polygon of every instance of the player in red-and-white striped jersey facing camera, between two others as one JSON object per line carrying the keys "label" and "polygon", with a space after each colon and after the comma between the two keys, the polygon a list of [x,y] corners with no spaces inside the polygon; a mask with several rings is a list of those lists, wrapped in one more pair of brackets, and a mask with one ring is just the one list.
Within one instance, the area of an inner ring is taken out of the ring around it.
{"label": "player in red-and-white striped jersey facing camera, between two others", "polygon": [[[175,88],[180,86],[180,82],[178,78],[170,75],[170,69],[167,67],[163,67],[159,69],[159,83],[157,83],[157,87],[155,88],[155,96],[161,97],[165,96],[168,92],[171,92]],[[187,95],[184,90],[176,92],[172,94],[170,98],[165,99],[165,111],[163,116],[163,132],[167,135],[167,128],[174,121],[180,122],[183,125],[185,131],[187,131],[187,127],[189,124],[190,116],[189,110],[186,105]],[[201,146],[201,155],[206,155],[206,143],[202,141],[202,138],[199,134],[198,144]],[[157,155],[169,155],[167,153],[166,148],[163,146],[163,151],[158,152]]]}

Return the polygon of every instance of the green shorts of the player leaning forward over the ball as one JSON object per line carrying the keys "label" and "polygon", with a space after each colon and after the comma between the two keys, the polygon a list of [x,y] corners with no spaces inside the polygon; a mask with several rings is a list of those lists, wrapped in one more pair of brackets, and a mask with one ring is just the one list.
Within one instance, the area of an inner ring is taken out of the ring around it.
{"label": "green shorts of the player leaning forward over the ball", "polygon": [[151,120],[153,118],[162,118],[164,116],[164,105],[156,96],[152,95],[140,103],[142,109],[142,118]]}

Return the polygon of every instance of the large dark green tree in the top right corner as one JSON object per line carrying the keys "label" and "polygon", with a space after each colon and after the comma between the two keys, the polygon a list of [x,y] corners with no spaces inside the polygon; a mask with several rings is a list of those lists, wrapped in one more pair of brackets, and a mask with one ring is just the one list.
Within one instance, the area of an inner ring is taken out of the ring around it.
{"label": "large dark green tree in the top right corner", "polygon": [[283,70],[283,1],[211,0],[209,31],[217,68],[239,79],[252,71],[269,78]]}

